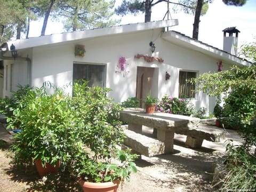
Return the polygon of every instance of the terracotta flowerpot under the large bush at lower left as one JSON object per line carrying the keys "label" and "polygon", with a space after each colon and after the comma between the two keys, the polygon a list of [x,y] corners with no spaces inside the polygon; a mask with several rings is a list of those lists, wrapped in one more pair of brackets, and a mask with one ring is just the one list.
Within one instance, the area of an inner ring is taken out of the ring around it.
{"label": "terracotta flowerpot under the large bush at lower left", "polygon": [[43,177],[47,173],[53,173],[53,174],[58,174],[58,169],[60,167],[60,161],[56,163],[55,166],[51,165],[50,163],[46,163],[45,167],[42,166],[42,161],[41,160],[36,160],[36,169],[40,177]]}

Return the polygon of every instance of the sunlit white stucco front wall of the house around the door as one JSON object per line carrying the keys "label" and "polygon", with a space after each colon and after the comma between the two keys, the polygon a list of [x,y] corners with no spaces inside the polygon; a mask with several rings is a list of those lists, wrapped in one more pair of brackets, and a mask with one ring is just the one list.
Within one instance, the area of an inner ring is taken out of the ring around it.
{"label": "sunlit white stucco front wall of the house around the door", "polygon": [[[85,32],[86,33],[86,32]],[[129,97],[135,97],[137,67],[158,68],[157,93],[159,99],[164,94],[178,97],[179,70],[196,71],[198,74],[216,72],[218,70],[217,58],[210,58],[202,53],[191,51],[174,45],[161,38],[162,29],[139,31],[133,34],[110,35],[86,39],[80,42],[70,42],[62,45],[41,46],[33,48],[33,62],[31,66],[31,85],[42,86],[43,82],[50,81],[57,86],[69,84],[73,79],[73,63],[102,63],[106,64],[106,86],[113,91],[109,97],[116,102],[122,102]],[[134,55],[147,54],[151,56],[149,42],[154,41],[156,50],[153,54],[164,60],[146,62],[143,58],[134,59]],[[85,46],[85,56],[75,57],[76,44]],[[129,73],[125,77],[115,73],[119,57],[125,57],[129,65],[125,65]],[[228,68],[226,63],[223,69]],[[165,81],[165,72],[171,75],[170,80]],[[155,74],[154,74],[155,75]],[[67,89],[71,93],[71,87]],[[213,99],[211,99],[212,101]],[[196,107],[206,107],[213,110],[213,103],[209,104],[209,98],[199,93],[194,100]]]}

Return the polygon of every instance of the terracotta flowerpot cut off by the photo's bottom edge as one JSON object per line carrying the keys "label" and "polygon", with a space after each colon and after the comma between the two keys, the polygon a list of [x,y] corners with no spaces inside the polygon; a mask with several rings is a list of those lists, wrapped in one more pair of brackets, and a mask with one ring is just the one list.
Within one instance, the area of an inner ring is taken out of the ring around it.
{"label": "terracotta flowerpot cut off by the photo's bottom edge", "polygon": [[115,180],[113,182],[86,182],[82,179],[79,179],[79,184],[83,187],[84,192],[116,192],[119,186],[120,181]]}

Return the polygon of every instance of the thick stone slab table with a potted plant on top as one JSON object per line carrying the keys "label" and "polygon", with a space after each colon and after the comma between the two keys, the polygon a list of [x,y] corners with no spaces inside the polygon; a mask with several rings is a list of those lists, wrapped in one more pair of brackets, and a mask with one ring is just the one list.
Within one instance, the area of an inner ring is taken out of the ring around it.
{"label": "thick stone slab table with a potted plant on top", "polygon": [[142,108],[125,108],[120,111],[121,121],[128,123],[128,130],[142,133],[142,125],[153,127],[156,137],[164,142],[165,154],[173,153],[175,130],[196,129],[201,119],[183,115],[174,115],[155,111],[146,114]]}

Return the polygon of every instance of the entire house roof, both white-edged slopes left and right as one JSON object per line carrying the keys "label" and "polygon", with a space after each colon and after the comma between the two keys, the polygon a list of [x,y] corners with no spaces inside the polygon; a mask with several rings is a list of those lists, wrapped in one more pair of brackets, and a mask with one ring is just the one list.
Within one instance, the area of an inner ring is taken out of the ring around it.
{"label": "entire house roof, both white-edged slopes left and right", "polygon": [[[68,42],[79,42],[81,39],[95,38],[99,36],[106,35],[116,35],[125,33],[134,33],[137,31],[157,29],[164,27],[171,27],[178,25],[177,19],[163,20],[163,21],[151,21],[146,23],[133,23],[121,26],[104,27],[83,31],[74,31],[71,33],[61,33],[45,35],[40,37],[31,37],[28,39],[18,39],[16,41],[8,42],[10,46],[12,43],[15,45],[17,50],[28,49],[37,46],[47,46],[52,44],[64,44]],[[163,33],[162,38],[178,46],[186,47],[194,51],[201,52],[203,54],[209,55],[213,58],[218,58],[219,60],[232,63],[238,66],[250,66],[251,62],[236,57],[228,52],[213,47],[209,44],[203,43],[196,39],[190,38],[184,34],[177,31],[166,31]]]}

